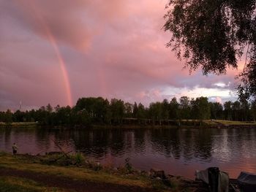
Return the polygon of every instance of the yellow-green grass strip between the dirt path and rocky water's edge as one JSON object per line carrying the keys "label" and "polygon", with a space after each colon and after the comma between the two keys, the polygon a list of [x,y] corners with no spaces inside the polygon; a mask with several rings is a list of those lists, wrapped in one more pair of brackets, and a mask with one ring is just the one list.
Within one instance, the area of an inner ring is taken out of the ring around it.
{"label": "yellow-green grass strip between the dirt path and rocky water's edge", "polygon": [[116,175],[108,172],[95,172],[93,169],[76,166],[56,166],[39,164],[37,160],[26,158],[23,155],[9,155],[0,153],[0,166],[31,172],[39,172],[49,175],[64,176],[75,180],[88,180],[95,183],[113,183],[119,185],[132,185],[146,188],[151,184],[145,177],[132,177],[130,175]]}

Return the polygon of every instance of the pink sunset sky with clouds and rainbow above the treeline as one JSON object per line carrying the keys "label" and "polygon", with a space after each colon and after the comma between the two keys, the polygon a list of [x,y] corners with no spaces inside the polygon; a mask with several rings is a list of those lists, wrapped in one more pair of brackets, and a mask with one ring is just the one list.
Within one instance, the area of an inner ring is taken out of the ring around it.
{"label": "pink sunset sky with clouds and rainbow above the treeline", "polygon": [[167,0],[0,0],[0,110],[102,96],[236,100],[241,71],[189,74],[165,32]]}

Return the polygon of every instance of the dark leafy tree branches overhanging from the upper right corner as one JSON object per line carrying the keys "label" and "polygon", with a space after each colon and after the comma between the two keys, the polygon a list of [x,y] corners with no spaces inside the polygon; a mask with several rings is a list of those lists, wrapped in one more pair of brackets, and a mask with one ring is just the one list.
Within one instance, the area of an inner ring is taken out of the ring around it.
{"label": "dark leafy tree branches overhanging from the upper right corner", "polygon": [[227,66],[240,74],[240,93],[256,96],[256,0],[169,0],[165,31],[172,37],[167,47],[184,58],[189,71],[201,67],[203,74],[223,74]]}

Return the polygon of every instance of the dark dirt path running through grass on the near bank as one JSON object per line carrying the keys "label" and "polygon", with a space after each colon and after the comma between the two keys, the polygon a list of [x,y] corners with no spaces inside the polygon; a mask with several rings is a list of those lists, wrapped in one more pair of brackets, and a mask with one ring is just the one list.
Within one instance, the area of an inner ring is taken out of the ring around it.
{"label": "dark dirt path running through grass on the near bank", "polygon": [[83,192],[150,192],[150,188],[140,188],[137,186],[116,185],[111,183],[94,183],[88,180],[72,180],[67,177],[59,177],[48,174],[40,174],[17,169],[0,168],[0,176],[22,177],[34,180],[38,183],[47,185],[48,187],[64,188],[66,190],[83,191]]}

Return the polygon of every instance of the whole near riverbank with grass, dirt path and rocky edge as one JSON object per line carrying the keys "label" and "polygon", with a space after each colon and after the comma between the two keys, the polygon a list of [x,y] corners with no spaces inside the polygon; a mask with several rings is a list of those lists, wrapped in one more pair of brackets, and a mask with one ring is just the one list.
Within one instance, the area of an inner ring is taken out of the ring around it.
{"label": "whole near riverbank with grass, dirt path and rocky edge", "polygon": [[[158,175],[159,174],[159,175]],[[0,191],[197,191],[200,183],[162,172],[114,168],[76,155],[0,153]]]}

